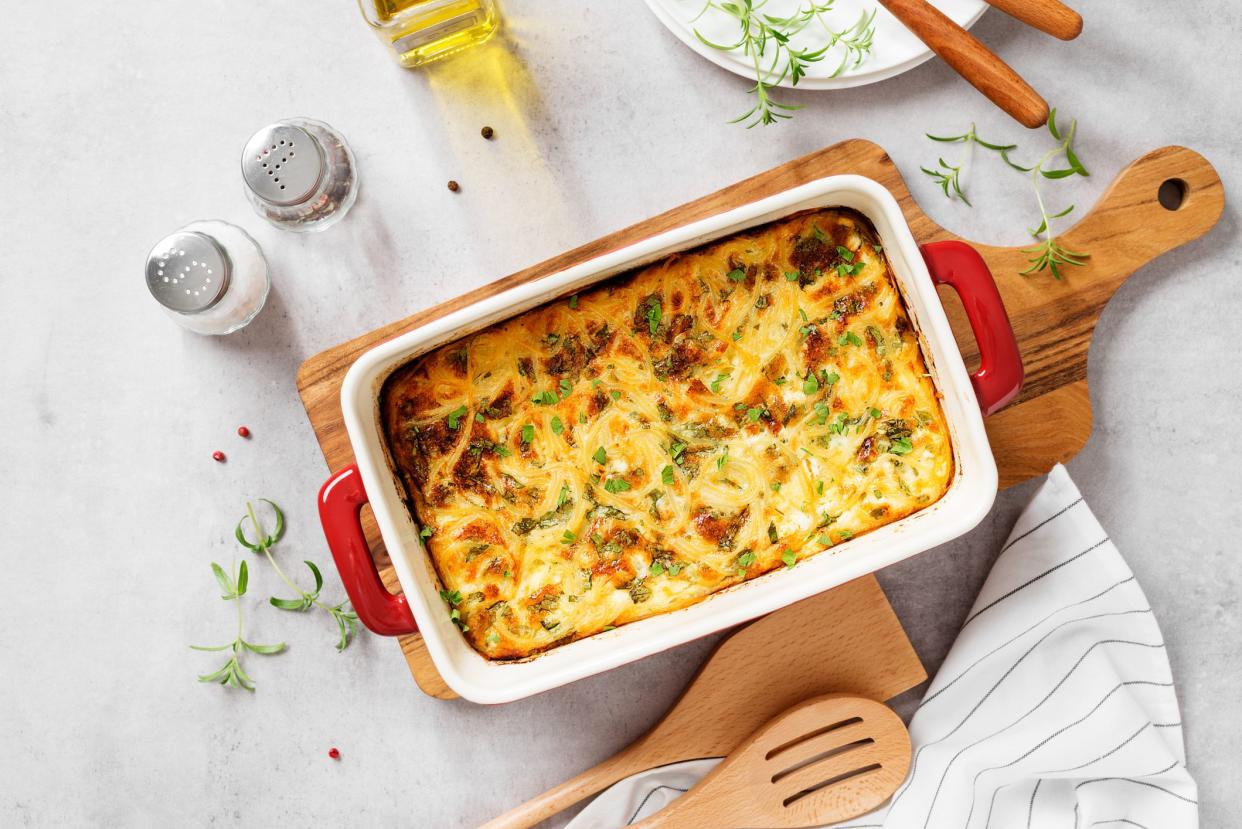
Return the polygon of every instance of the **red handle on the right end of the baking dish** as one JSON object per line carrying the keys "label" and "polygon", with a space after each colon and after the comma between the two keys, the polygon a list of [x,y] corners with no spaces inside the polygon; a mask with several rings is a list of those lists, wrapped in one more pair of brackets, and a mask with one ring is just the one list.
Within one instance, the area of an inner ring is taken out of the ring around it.
{"label": "red handle on the right end of the baking dish", "polygon": [[970,375],[984,416],[1004,409],[1022,390],[1022,353],[1001,293],[987,263],[959,241],[928,242],[920,249],[932,281],[958,292],[979,343],[979,370]]}

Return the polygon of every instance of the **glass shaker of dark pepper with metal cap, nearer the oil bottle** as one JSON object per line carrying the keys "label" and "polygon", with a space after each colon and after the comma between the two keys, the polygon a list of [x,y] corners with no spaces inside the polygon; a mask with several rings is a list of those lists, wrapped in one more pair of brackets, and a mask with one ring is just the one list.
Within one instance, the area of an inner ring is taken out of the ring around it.
{"label": "glass shaker of dark pepper with metal cap, nearer the oil bottle", "polygon": [[246,198],[282,230],[325,230],[358,198],[358,165],[349,144],[322,121],[289,118],[255,133],[241,155]]}

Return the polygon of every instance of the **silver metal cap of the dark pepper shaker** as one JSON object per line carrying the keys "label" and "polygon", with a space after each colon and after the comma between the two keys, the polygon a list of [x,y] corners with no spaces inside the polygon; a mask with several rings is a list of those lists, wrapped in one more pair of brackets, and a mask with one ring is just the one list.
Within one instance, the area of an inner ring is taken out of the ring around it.
{"label": "silver metal cap of the dark pepper shaker", "polygon": [[246,186],[263,201],[281,206],[309,199],[327,167],[314,135],[284,123],[268,124],[251,135],[241,155]]}

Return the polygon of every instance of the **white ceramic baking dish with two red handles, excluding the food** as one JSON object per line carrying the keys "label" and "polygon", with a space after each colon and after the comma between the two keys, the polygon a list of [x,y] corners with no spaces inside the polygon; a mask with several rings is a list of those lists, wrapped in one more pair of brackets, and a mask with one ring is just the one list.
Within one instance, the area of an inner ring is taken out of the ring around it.
{"label": "white ceramic baking dish with two red handles, excluding the food", "polygon": [[[796,569],[770,572],[692,607],[595,634],[530,659],[483,659],[448,618],[438,595],[441,585],[435,568],[386,457],[379,416],[379,392],[385,378],[425,352],[555,297],[579,292],[668,254],[800,210],[827,206],[853,208],[876,226],[920,333],[929,369],[943,394],[956,461],[944,497],[902,521],[800,562]],[[936,282],[951,285],[963,298],[982,358],[974,375],[966,373],[936,296]],[[340,394],[356,462],[324,483],[320,517],[342,579],[368,628],[386,635],[421,631],[437,670],[453,691],[474,702],[507,702],[754,619],[968,532],[987,513],[996,496],[996,464],[982,415],[1011,400],[1021,382],[1022,363],[1013,332],[977,252],[963,242],[935,242],[920,250],[888,190],[862,176],[835,175],[517,285],[366,352],[349,369]],[[402,594],[390,594],[379,579],[359,521],[366,501]]]}

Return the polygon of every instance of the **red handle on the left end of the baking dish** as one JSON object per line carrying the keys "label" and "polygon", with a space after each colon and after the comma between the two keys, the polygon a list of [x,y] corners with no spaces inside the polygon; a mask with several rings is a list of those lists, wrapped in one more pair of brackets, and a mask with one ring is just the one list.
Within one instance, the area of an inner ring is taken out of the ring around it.
{"label": "red handle on the left end of the baking dish", "polygon": [[405,595],[389,593],[375,569],[371,548],[363,534],[364,503],[366,490],[356,464],[329,477],[319,490],[319,522],[345,593],[359,620],[381,636],[419,633]]}

